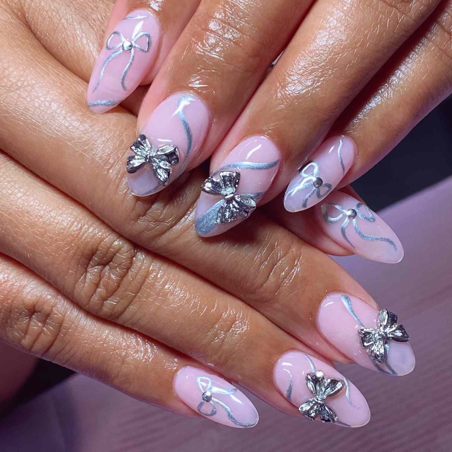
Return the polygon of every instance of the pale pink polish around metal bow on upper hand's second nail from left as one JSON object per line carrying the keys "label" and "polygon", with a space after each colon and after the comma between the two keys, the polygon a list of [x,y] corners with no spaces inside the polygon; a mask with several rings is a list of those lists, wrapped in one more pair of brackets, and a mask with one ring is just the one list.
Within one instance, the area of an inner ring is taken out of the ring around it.
{"label": "pale pink polish around metal bow on upper hand's second nail from left", "polygon": [[[189,155],[188,140],[184,125],[179,117],[182,112],[192,133],[192,146]],[[179,149],[180,163],[174,165],[168,184],[177,179],[190,161],[193,160],[204,141],[212,122],[210,108],[191,93],[175,93],[161,102],[146,121],[141,133],[148,137],[154,146],[173,144]],[[127,175],[129,188],[137,196],[148,196],[163,190],[155,177],[151,165],[144,165],[136,173]]]}

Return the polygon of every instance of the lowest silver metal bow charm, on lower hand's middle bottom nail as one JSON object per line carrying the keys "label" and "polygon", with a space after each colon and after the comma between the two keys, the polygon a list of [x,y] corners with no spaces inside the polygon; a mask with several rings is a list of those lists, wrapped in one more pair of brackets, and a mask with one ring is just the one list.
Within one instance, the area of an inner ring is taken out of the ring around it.
{"label": "lowest silver metal bow charm, on lower hand's middle bottom nail", "polygon": [[337,422],[338,416],[325,400],[341,391],[345,386],[345,381],[335,378],[325,378],[322,371],[308,373],[306,375],[306,385],[314,397],[306,400],[298,410],[311,421],[317,416],[322,422]]}

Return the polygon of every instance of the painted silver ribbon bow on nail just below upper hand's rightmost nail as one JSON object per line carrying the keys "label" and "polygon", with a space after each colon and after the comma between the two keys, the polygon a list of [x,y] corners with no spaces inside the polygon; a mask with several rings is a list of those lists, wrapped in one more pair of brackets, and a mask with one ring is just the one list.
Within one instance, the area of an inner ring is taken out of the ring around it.
{"label": "painted silver ribbon bow on nail just below upper hand's rightmost nail", "polygon": [[[330,215],[328,215],[328,212],[327,212],[328,206],[334,207],[335,209],[339,210],[339,212],[341,212],[341,213],[337,217],[330,217]],[[368,217],[365,214],[363,214],[362,212],[360,212],[359,209],[361,207],[364,207],[366,209]],[[355,248],[355,245],[353,245],[353,243],[348,239],[347,234],[346,234],[346,228],[347,228],[348,224],[350,223],[350,221],[353,223],[353,229],[355,230],[355,232],[363,240],[367,240],[367,241],[379,240],[381,242],[386,242],[392,246],[394,251],[397,250],[397,245],[395,245],[393,240],[388,239],[387,237],[380,237],[377,235],[368,235],[368,234],[365,234],[363,231],[361,231],[361,229],[359,229],[358,218],[360,218],[361,220],[367,221],[369,223],[375,222],[375,217],[373,216],[371,210],[369,209],[369,207],[367,207],[362,202],[358,202],[354,207],[352,207],[351,209],[348,209],[348,210],[344,209],[344,207],[342,207],[340,204],[332,204],[330,202],[323,204],[321,208],[322,208],[323,218],[328,224],[337,223],[338,221],[342,220],[342,218],[345,218],[344,222],[342,223],[342,226],[340,228],[340,231],[341,231],[341,234],[342,234],[342,237],[344,238],[344,240],[352,248]]]}

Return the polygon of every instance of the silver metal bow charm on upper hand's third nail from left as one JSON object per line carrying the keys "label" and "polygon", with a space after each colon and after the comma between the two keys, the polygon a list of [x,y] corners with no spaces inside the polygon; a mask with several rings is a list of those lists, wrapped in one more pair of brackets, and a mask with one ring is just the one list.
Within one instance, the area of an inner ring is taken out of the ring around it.
{"label": "silver metal bow charm on upper hand's third nail from left", "polygon": [[256,208],[256,201],[247,194],[236,194],[240,182],[238,171],[221,171],[220,179],[208,177],[202,184],[202,191],[210,195],[223,196],[224,202],[218,209],[216,223],[226,224],[237,220],[237,216],[248,218]]}

